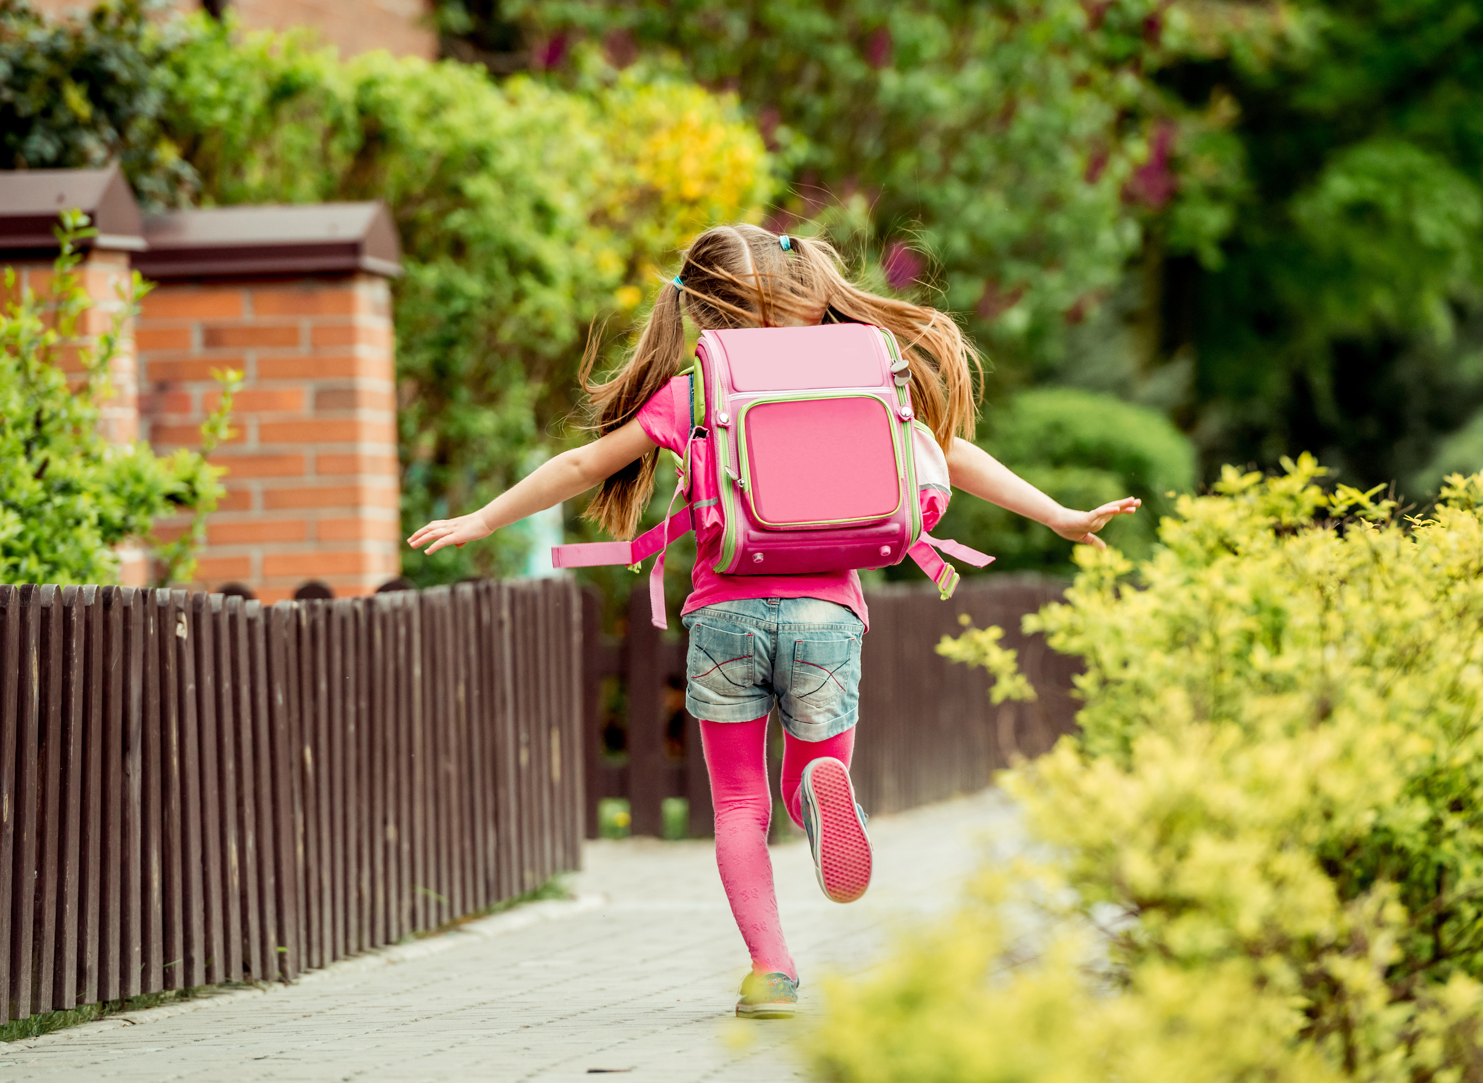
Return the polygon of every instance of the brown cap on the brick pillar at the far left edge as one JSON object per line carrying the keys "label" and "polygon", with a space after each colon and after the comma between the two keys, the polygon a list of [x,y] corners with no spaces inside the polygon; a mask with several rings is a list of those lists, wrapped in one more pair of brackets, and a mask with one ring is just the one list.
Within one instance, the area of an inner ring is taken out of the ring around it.
{"label": "brown cap on the brick pillar at the far left edge", "polygon": [[82,209],[98,230],[82,247],[138,252],[144,216],[117,166],[107,169],[16,169],[0,172],[0,252],[49,258],[58,218]]}

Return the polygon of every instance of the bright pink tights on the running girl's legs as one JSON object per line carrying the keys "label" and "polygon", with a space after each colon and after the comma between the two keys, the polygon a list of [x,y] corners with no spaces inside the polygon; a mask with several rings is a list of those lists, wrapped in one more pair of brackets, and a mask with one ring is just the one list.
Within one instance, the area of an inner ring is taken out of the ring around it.
{"label": "bright pink tights on the running girl's legs", "polygon": [[[758,973],[798,978],[783,941],[773,892],[773,862],[767,856],[767,827],[773,797],[767,785],[767,717],[752,722],[701,722],[700,735],[710,772],[710,799],[716,807],[716,865],[731,914],[752,953]],[[799,784],[810,760],[832,756],[850,766],[854,729],[826,741],[799,741],[783,735],[783,803],[802,825]]]}

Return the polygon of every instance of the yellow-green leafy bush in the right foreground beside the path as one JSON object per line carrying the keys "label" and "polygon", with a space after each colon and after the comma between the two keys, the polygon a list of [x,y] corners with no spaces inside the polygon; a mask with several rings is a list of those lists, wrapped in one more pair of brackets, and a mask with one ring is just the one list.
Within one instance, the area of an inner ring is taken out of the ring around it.
{"label": "yellow-green leafy bush in the right foreground beside the path", "polygon": [[[820,1077],[1483,1079],[1483,476],[1400,521],[1286,465],[1026,618],[1086,662],[1004,779],[1048,856],[835,985]],[[994,631],[943,653],[1013,677]]]}

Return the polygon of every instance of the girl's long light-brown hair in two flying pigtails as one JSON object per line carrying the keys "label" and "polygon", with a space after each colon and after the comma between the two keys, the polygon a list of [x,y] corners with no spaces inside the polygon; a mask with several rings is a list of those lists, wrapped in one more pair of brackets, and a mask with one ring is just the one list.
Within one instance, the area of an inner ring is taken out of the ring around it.
{"label": "girl's long light-brown hair in two flying pigtails", "polygon": [[[581,387],[592,400],[599,434],[621,428],[685,363],[685,314],[701,329],[776,327],[822,323],[826,317],[873,323],[896,335],[911,366],[912,407],[937,443],[973,439],[974,401],[983,364],[946,313],[909,301],[868,293],[842,271],[832,244],[777,234],[755,225],[718,225],[696,237],[684,253],[681,287],[660,287],[648,323],[624,364],[604,384],[592,382],[596,348],[581,366]],[[608,477],[586,517],[615,538],[630,538],[654,493],[657,452]]]}

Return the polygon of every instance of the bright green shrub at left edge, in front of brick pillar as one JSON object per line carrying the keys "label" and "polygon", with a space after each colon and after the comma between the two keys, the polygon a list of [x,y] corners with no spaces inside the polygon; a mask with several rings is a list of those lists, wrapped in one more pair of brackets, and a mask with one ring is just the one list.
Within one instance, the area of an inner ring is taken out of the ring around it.
{"label": "bright green shrub at left edge, in front of brick pillar", "polygon": [[[147,444],[116,444],[99,430],[123,326],[147,292],[138,274],[108,329],[76,348],[82,385],[71,387],[58,364],[92,305],[77,243],[93,233],[86,215],[62,215],[44,298],[19,290],[15,270],[4,271],[12,299],[0,310],[0,582],[114,582],[120,542],[148,539],[156,520],[181,511],[200,523],[222,492],[221,471],[200,455],[160,459]],[[217,436],[227,409],[208,422]],[[196,541],[199,530],[162,550],[162,582],[190,579]]]}

